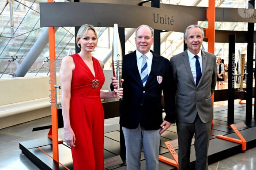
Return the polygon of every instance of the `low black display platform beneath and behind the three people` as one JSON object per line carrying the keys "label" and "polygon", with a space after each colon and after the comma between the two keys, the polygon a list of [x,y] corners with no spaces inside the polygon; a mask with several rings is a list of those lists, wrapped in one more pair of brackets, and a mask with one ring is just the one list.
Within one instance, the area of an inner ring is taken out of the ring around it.
{"label": "low black display platform beneath and behind the three people", "polygon": [[[254,107],[253,107],[254,108]],[[256,146],[256,121],[254,120],[254,116],[252,117],[252,121],[250,123],[245,122],[245,105],[235,105],[234,108],[234,123],[244,122],[246,127],[243,127],[240,130],[240,133],[247,141],[247,149],[253,148]],[[214,110],[214,124],[211,129],[211,140],[209,145],[208,152],[208,163],[214,163],[218,160],[236,155],[241,150],[241,144],[233,143],[231,141],[225,141],[223,139],[219,139],[216,136],[218,134],[233,137],[239,139],[237,134],[234,133],[233,129],[227,127],[227,106],[222,106],[215,108]],[[162,140],[160,145],[160,155],[165,156],[167,158],[173,159],[171,154],[169,153],[165,141],[172,141],[177,139],[177,130],[175,124],[172,125],[165,133],[162,134]],[[195,149],[191,146],[191,167],[192,169],[195,167]],[[59,162],[56,163],[50,157],[53,155],[52,153],[52,145],[51,140],[47,138],[47,134],[45,134],[45,138],[36,139],[32,141],[23,141],[19,143],[19,148],[22,150],[24,155],[26,155],[35,165],[37,165],[40,169],[44,170],[66,170],[67,168],[72,170],[72,155],[71,149],[65,145],[65,142],[59,144]],[[42,152],[41,150],[46,152]],[[174,148],[176,152],[178,152],[178,147]],[[104,158],[105,160],[109,160],[109,158],[116,158],[116,156],[120,155],[120,131],[119,125],[110,125],[105,127],[104,134]],[[113,160],[114,161],[114,160]],[[120,162],[118,162],[120,163]],[[142,151],[141,156],[141,169],[145,169],[145,158]],[[175,170],[176,167],[171,166],[167,163],[163,163],[159,161],[159,169],[160,170]],[[126,170],[125,161],[121,164],[113,163],[113,166],[108,167],[105,170]]]}

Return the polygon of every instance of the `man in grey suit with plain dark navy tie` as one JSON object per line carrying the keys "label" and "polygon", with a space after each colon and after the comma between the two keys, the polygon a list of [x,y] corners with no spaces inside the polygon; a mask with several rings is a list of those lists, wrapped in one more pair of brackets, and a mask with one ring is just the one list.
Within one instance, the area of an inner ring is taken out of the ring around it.
{"label": "man in grey suit with plain dark navy tie", "polygon": [[[196,170],[207,170],[207,152],[213,119],[212,94],[217,71],[216,56],[200,50],[203,28],[190,25],[184,33],[188,49],[170,58],[172,96],[176,110],[179,170],[190,169],[190,148],[195,135]],[[196,58],[199,58],[201,78],[196,85]]]}

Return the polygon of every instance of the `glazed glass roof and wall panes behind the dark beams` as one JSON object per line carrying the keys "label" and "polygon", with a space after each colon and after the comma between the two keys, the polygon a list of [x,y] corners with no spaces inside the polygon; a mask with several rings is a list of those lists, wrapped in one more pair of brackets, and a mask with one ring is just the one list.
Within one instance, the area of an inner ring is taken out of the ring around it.
{"label": "glazed glass roof and wall panes behind the dark beams", "polygon": [[[65,0],[55,0],[64,2]],[[40,27],[39,2],[47,0],[13,0],[13,18],[8,0],[0,0],[0,79],[13,77],[16,69],[29,54],[33,45],[40,40],[47,28]],[[68,2],[68,1],[66,1]],[[161,0],[164,4],[208,7],[208,0]],[[248,0],[215,0],[216,7],[248,8]],[[207,27],[207,22],[198,24]],[[247,30],[247,23],[215,22],[215,29]],[[98,45],[93,56],[105,62],[104,69],[111,69],[111,51],[113,28],[98,27]],[[125,29],[125,54],[136,49],[134,43],[135,29]],[[48,37],[47,37],[48,38]],[[56,28],[56,71],[59,72],[61,59],[68,55],[69,50],[75,52],[74,27]],[[45,46],[25,76],[42,76],[49,74],[49,45]],[[247,54],[247,44],[236,43],[236,49]],[[207,42],[203,42],[207,51]],[[153,47],[152,47],[153,49]],[[183,33],[161,33],[161,55],[171,58],[183,51]],[[255,50],[254,50],[255,51]],[[215,43],[215,54],[228,63],[228,44]],[[238,51],[237,51],[238,58]]]}

